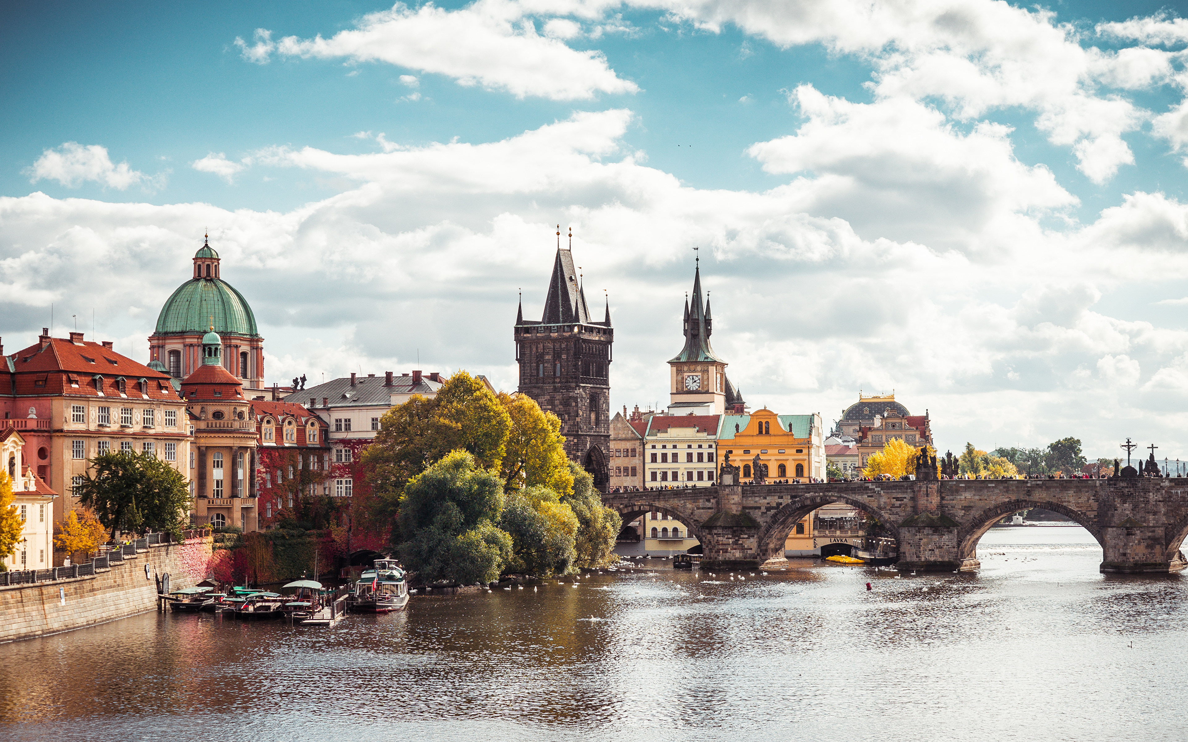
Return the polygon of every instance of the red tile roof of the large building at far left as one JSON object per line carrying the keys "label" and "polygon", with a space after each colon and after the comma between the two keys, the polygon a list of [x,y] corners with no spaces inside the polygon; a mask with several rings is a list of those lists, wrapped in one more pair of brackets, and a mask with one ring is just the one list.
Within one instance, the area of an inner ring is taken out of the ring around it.
{"label": "red tile roof of the large building at far left", "polygon": [[[115,380],[122,376],[128,398],[177,399],[168,374],[90,341],[51,337],[18,350],[7,362],[17,374],[15,388],[11,375],[0,374],[0,394],[99,397],[95,378],[102,376],[103,394],[119,395]],[[148,381],[147,394],[140,392],[140,379]]]}

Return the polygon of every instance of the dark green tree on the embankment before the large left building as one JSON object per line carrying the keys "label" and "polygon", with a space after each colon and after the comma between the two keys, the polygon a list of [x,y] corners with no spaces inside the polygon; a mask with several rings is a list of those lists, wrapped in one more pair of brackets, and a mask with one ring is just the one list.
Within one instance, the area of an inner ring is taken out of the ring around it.
{"label": "dark green tree on the embankment before the large left building", "polygon": [[168,531],[181,539],[189,510],[185,477],[153,454],[114,451],[90,459],[78,487],[80,502],[112,532]]}

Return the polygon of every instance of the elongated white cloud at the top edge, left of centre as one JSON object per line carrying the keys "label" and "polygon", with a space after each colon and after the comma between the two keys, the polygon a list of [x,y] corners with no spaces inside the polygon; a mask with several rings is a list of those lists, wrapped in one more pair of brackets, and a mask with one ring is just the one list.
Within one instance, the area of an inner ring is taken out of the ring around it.
{"label": "elongated white cloud at the top edge, left of centre", "polygon": [[525,7],[504,0],[478,0],[456,11],[432,4],[410,8],[398,2],[330,38],[289,36],[273,43],[271,32],[261,28],[254,45],[240,38],[235,44],[245,59],[259,64],[272,55],[385,62],[517,97],[567,101],[599,93],[636,93],[636,83],[615,75],[601,52],[564,44],[575,28],[575,23],[556,19],[541,36]]}

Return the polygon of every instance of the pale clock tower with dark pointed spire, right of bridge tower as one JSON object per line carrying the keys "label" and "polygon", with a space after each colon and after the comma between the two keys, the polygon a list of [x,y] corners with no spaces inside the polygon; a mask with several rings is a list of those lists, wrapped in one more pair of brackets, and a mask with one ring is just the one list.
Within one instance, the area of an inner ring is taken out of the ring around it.
{"label": "pale clock tower with dark pointed spire, right of bridge tower", "polygon": [[[684,303],[684,348],[671,361],[669,414],[741,412],[742,398],[726,378],[726,361],[714,354],[709,300],[701,300],[700,259],[694,267],[691,302]],[[738,410],[735,410],[739,407]]]}

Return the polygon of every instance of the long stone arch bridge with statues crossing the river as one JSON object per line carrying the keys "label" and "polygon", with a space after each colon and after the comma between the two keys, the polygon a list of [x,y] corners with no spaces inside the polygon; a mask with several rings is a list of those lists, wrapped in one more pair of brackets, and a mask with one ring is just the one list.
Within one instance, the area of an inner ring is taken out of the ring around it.
{"label": "long stone arch bridge with statues crossing the river", "polygon": [[604,495],[624,522],[665,513],[702,544],[710,569],[773,566],[796,524],[829,502],[877,519],[899,543],[899,566],[974,570],[978,540],[1000,518],[1043,508],[1101,544],[1102,572],[1176,572],[1188,533],[1188,478],[941,480],[719,486]]}

